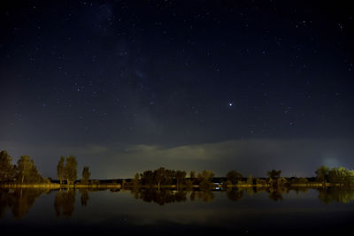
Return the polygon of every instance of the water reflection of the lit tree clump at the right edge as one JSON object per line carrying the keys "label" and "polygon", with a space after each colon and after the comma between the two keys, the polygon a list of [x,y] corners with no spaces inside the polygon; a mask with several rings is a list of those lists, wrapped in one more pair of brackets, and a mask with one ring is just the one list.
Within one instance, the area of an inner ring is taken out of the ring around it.
{"label": "water reflection of the lit tree clump at the right edge", "polygon": [[331,202],[349,203],[354,201],[354,189],[346,187],[319,188],[319,200],[329,204]]}

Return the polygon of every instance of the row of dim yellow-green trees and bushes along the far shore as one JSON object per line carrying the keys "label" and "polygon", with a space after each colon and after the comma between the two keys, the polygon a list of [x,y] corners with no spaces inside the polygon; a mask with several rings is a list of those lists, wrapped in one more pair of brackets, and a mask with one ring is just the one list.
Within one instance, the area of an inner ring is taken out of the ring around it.
{"label": "row of dim yellow-green trees and bushes along the far shore", "polygon": [[[78,171],[77,160],[75,156],[60,156],[57,165],[57,177],[60,186],[72,186],[77,183]],[[336,185],[354,185],[354,171],[350,171],[344,167],[332,168],[322,165],[316,171],[314,180],[307,178],[281,177],[281,170],[267,171],[267,178],[253,178],[249,176],[244,178],[239,171],[228,171],[225,178],[221,179],[222,187],[235,185],[248,186],[268,186],[279,187],[284,185],[308,185],[317,184],[336,184]],[[81,185],[100,184],[98,180],[90,180],[89,166],[84,166],[81,172]],[[204,170],[201,172],[190,171],[189,178],[186,171],[168,170],[160,167],[154,171],[143,171],[136,173],[135,178],[130,182],[123,181],[123,185],[130,187],[169,187],[191,188],[199,187],[200,189],[210,189],[214,187],[215,174],[213,171]],[[3,150],[0,152],[0,182],[14,182],[19,185],[25,184],[50,184],[50,179],[42,178],[38,171],[34,160],[30,156],[20,156],[17,164],[12,164],[12,157]]]}

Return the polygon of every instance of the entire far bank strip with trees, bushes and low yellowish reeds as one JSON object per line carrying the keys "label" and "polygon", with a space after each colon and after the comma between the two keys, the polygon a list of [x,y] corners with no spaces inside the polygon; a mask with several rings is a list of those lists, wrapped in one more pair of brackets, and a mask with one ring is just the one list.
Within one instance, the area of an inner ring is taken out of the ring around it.
{"label": "entire far bank strip with trees, bushes and low yellowish reeds", "polygon": [[89,166],[84,166],[78,178],[78,163],[75,156],[61,156],[57,165],[57,178],[43,178],[30,156],[20,156],[16,164],[3,150],[0,152],[0,185],[2,187],[48,187],[48,188],[175,188],[177,190],[209,191],[232,187],[354,187],[354,171],[344,167],[320,166],[315,177],[282,177],[281,170],[266,172],[266,178],[242,176],[239,171],[228,171],[225,177],[215,177],[213,171],[174,171],[160,167],[154,171],[136,173],[133,179],[90,179]]}

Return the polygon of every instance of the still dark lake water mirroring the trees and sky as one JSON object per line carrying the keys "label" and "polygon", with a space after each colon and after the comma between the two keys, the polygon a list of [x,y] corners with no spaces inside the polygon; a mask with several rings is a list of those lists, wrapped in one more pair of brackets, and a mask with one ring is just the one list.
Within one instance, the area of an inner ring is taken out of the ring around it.
{"label": "still dark lake water mirroring the trees and sky", "polygon": [[[6,233],[345,232],[354,224],[354,189],[42,190],[0,189]],[[4,234],[3,234],[4,235]]]}

